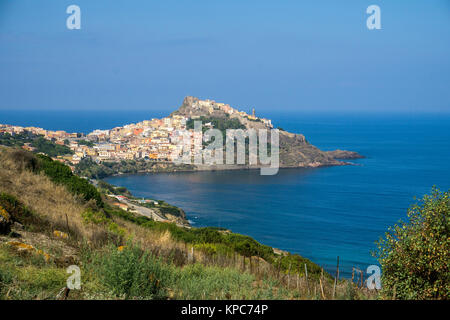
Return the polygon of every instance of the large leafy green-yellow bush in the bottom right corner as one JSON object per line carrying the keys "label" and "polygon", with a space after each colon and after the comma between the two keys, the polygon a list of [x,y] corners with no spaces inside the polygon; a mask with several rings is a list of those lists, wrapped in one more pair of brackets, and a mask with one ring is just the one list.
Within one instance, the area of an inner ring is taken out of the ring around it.
{"label": "large leafy green-yellow bush in the bottom right corner", "polygon": [[383,294],[399,299],[450,298],[449,192],[431,195],[408,210],[378,242]]}

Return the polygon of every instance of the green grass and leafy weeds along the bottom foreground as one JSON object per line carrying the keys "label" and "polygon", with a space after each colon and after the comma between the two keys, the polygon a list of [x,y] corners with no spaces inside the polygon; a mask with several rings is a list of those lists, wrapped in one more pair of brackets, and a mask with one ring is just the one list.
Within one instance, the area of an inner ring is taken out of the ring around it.
{"label": "green grass and leafy weeds along the bottom foreground", "polygon": [[[139,246],[122,250],[110,246],[103,251],[84,252],[87,273],[103,284],[96,296],[125,299],[273,299],[286,298],[273,279],[257,280],[255,275],[235,268],[200,263],[176,267]],[[93,293],[91,293],[93,294]]]}

